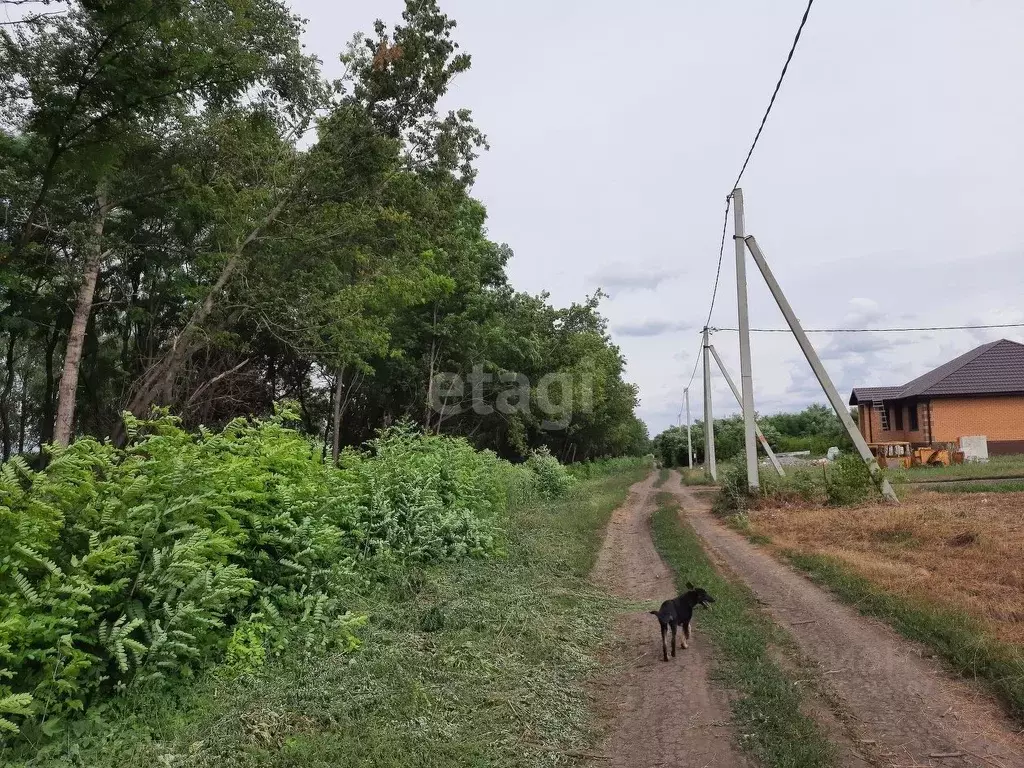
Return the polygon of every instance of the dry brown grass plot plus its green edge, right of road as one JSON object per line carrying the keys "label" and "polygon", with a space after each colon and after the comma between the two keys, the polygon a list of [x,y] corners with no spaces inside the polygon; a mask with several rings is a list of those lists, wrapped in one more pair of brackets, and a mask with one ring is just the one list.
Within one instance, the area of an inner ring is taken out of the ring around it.
{"label": "dry brown grass plot plus its green edge, right of road", "polygon": [[755,541],[988,685],[1024,721],[1024,495],[750,510]]}

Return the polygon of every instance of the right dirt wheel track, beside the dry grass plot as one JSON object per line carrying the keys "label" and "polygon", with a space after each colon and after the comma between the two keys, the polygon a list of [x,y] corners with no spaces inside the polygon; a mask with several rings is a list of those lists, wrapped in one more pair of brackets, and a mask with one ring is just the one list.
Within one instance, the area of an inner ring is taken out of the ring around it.
{"label": "right dirt wheel track, beside the dry grass plot", "polygon": [[1024,768],[1020,728],[989,696],[723,526],[678,473],[665,489],[677,495],[705,548],[750,586],[800,651],[820,666],[826,697],[869,762]]}

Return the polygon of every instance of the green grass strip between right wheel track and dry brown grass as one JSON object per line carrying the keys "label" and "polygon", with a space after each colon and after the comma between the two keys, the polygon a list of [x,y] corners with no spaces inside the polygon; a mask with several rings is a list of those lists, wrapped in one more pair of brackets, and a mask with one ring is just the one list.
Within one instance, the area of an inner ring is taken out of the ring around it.
{"label": "green grass strip between right wheel track and dry brown grass", "polygon": [[985,683],[1024,722],[1024,654],[1019,647],[992,638],[965,612],[886,592],[827,555],[782,555],[861,613],[884,620],[904,637],[935,650],[956,672]]}

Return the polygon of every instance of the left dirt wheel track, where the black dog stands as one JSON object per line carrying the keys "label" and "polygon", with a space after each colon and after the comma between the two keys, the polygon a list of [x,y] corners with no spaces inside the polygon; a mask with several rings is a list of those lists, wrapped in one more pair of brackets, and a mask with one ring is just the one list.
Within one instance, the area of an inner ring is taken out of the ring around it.
{"label": "left dirt wheel track, where the black dog stands", "polygon": [[[654,476],[630,488],[608,523],[593,578],[613,594],[651,607],[676,594],[672,573],[654,550],[649,518]],[[610,728],[595,765],[611,768],[732,768],[750,763],[733,745],[729,702],[708,679],[712,649],[694,623],[687,650],[662,660],[657,622],[626,613],[621,642],[607,659],[596,694]]]}

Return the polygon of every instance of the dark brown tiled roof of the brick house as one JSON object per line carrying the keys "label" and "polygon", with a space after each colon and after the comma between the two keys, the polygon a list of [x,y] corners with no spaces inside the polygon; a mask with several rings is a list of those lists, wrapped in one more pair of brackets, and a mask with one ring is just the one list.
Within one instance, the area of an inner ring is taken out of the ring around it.
{"label": "dark brown tiled roof of the brick house", "polygon": [[901,387],[857,387],[850,395],[850,404],[1010,393],[1024,393],[1024,344],[1000,339],[982,344]]}

